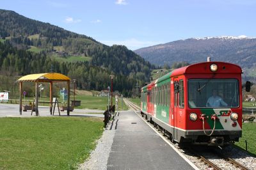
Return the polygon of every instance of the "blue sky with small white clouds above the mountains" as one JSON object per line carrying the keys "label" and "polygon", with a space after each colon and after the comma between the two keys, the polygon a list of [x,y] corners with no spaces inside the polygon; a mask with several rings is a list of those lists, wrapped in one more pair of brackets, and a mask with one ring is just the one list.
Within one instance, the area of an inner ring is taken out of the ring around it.
{"label": "blue sky with small white clouds above the mountains", "polygon": [[0,0],[0,9],[131,50],[206,36],[256,37],[255,0]]}

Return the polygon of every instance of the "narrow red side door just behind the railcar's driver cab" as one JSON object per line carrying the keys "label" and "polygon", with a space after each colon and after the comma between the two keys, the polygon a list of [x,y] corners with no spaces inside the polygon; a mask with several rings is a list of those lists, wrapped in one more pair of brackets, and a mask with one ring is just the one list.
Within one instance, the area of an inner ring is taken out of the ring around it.
{"label": "narrow red side door just behind the railcar's driver cab", "polygon": [[177,141],[178,139],[178,129],[177,129],[177,121],[178,121],[178,107],[179,107],[179,81],[177,78],[173,79],[173,92],[174,92],[174,109],[173,109],[173,140]]}

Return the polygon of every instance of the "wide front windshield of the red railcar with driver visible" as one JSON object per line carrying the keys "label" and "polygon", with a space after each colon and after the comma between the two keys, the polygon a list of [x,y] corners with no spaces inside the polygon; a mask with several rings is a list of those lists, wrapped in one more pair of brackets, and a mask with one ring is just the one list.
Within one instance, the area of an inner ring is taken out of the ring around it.
{"label": "wide front windshield of the red railcar with driver visible", "polygon": [[237,79],[190,79],[188,81],[190,108],[239,107]]}

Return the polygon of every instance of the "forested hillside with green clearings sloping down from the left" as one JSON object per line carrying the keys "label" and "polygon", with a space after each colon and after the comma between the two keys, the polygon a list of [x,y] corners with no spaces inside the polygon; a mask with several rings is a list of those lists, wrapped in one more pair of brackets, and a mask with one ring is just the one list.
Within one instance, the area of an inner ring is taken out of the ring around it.
{"label": "forested hillside with green clearings sloping down from the left", "polygon": [[106,89],[114,74],[115,89],[126,95],[136,82],[148,82],[154,68],[125,46],[109,47],[8,10],[0,10],[0,66],[2,75],[60,72],[77,79],[78,88],[95,90]]}

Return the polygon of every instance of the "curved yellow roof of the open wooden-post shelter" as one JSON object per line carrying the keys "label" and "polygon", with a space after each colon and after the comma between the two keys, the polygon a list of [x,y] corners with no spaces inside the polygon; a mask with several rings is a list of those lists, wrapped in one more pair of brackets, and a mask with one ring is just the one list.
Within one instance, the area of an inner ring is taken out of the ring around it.
{"label": "curved yellow roof of the open wooden-post shelter", "polygon": [[51,82],[51,81],[70,81],[70,78],[61,73],[35,73],[20,77],[17,82]]}

